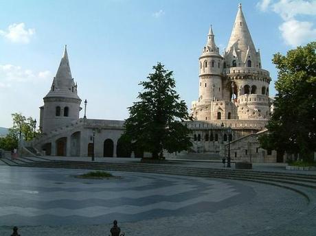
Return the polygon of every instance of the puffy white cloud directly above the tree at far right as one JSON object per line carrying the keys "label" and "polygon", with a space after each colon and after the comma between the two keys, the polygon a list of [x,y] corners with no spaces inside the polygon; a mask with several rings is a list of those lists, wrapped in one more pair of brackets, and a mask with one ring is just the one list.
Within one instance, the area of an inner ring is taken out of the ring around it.
{"label": "puffy white cloud directly above the tree at far right", "polygon": [[292,47],[309,43],[309,41],[316,38],[316,29],[313,28],[313,23],[308,21],[285,21],[279,29],[285,43]]}

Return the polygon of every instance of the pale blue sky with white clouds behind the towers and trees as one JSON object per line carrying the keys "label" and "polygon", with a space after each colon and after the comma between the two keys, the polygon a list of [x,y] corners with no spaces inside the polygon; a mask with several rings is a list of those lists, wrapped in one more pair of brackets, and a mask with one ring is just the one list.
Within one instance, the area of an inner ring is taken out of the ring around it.
{"label": "pale blue sky with white clouds behind the towers and trees", "polygon": [[[39,120],[65,45],[87,118],[126,119],[157,62],[174,71],[190,109],[199,96],[199,56],[212,25],[221,53],[238,10],[235,0],[0,0],[0,127],[11,113]],[[316,0],[243,0],[262,68],[273,54],[316,40]],[[83,117],[83,109],[80,117]]]}

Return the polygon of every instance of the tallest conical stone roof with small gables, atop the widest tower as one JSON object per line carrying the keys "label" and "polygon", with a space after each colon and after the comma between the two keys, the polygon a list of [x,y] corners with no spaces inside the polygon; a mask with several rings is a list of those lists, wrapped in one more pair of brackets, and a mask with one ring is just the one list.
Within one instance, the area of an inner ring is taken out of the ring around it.
{"label": "tallest conical stone roof with small gables, atop the widest tower", "polygon": [[234,55],[234,59],[229,59],[236,60],[238,62],[238,66],[247,66],[247,60],[251,60],[253,62],[253,67],[256,67],[256,65],[260,62],[260,57],[258,58],[256,48],[247,27],[245,16],[242,13],[241,3],[238,5],[238,12],[232,29],[232,34],[226,48],[226,54],[233,56],[233,51],[235,51],[236,55]]}

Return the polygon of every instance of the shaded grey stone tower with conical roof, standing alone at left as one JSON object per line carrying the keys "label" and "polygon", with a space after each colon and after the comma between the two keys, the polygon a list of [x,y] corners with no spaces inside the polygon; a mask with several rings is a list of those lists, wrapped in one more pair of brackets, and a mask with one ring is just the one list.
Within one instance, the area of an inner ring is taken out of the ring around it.
{"label": "shaded grey stone tower with conical roof, standing alone at left", "polygon": [[67,46],[50,91],[43,99],[44,106],[40,108],[40,129],[43,133],[79,118],[81,99],[77,95],[77,84],[71,76]]}

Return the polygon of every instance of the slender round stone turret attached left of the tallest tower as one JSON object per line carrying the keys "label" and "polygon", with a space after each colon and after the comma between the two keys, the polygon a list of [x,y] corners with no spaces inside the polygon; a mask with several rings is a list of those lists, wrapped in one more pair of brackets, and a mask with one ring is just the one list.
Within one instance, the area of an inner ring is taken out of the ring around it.
{"label": "slender round stone turret attached left of the tallest tower", "polygon": [[201,103],[223,99],[221,73],[223,57],[216,47],[212,25],[207,35],[207,43],[199,58],[199,101]]}

